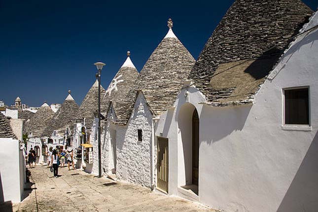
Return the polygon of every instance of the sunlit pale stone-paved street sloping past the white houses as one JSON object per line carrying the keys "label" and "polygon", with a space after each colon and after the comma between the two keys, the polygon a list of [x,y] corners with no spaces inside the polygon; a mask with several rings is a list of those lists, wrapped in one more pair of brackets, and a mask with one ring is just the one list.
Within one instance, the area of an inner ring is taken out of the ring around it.
{"label": "sunlit pale stone-paved street sloping past the white houses", "polygon": [[152,192],[130,183],[60,168],[55,178],[46,166],[30,169],[34,182],[14,212],[214,212],[197,203]]}

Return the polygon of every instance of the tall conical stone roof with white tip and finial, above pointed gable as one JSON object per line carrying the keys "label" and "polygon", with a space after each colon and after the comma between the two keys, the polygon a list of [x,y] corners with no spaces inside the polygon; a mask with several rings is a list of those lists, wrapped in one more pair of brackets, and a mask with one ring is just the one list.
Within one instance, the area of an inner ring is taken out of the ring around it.
{"label": "tall conical stone roof with white tip and finial, above pointed gable", "polygon": [[169,19],[168,34],[153,51],[143,66],[130,97],[141,90],[153,115],[159,115],[173,106],[177,94],[187,79],[194,58],[172,31]]}

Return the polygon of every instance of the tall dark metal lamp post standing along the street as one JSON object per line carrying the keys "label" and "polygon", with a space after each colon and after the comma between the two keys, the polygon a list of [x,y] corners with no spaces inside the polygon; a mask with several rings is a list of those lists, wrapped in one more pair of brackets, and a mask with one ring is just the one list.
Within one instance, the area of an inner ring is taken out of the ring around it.
{"label": "tall dark metal lamp post standing along the street", "polygon": [[101,155],[101,72],[105,63],[94,63],[97,68],[96,78],[98,80],[98,177],[102,177],[102,155]]}

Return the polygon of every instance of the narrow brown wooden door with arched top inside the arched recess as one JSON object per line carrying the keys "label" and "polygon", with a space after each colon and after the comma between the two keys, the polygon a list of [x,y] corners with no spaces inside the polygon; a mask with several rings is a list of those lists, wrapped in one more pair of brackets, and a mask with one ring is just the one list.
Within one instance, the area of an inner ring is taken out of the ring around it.
{"label": "narrow brown wooden door with arched top inside the arched recess", "polygon": [[199,115],[195,109],[192,115],[192,184],[199,182]]}

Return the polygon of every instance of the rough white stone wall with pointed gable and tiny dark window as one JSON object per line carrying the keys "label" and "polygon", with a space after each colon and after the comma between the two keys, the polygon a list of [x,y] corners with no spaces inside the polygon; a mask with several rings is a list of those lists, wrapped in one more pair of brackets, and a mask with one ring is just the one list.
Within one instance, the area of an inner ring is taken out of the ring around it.
{"label": "rough white stone wall with pointed gable and tiny dark window", "polygon": [[[152,115],[140,94],[125,128],[116,131],[117,177],[139,185],[151,187],[150,144]],[[142,141],[138,141],[138,129],[142,130]]]}

